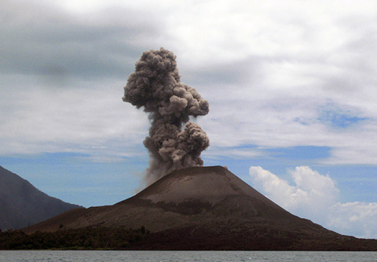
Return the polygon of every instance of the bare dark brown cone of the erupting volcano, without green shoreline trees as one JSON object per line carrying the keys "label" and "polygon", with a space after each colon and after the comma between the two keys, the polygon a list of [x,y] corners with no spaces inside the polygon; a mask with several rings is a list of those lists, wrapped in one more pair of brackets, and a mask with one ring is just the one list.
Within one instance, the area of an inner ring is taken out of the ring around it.
{"label": "bare dark brown cone of the erupting volcano, without green shoreline trees", "polygon": [[113,206],[74,209],[24,230],[89,226],[144,226],[150,235],[134,250],[377,250],[376,239],[288,213],[220,166],[180,169]]}

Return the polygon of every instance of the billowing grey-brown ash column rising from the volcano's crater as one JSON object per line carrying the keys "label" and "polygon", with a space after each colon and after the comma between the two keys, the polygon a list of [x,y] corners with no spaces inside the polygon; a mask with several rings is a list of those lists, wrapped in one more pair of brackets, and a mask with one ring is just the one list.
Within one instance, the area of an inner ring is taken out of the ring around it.
{"label": "billowing grey-brown ash column rising from the volcano's crater", "polygon": [[207,134],[189,121],[190,116],[207,115],[209,104],[181,83],[175,58],[163,48],[145,51],[124,87],[123,101],[149,113],[151,126],[144,140],[150,154],[147,185],[175,169],[202,166],[201,152],[209,146]]}

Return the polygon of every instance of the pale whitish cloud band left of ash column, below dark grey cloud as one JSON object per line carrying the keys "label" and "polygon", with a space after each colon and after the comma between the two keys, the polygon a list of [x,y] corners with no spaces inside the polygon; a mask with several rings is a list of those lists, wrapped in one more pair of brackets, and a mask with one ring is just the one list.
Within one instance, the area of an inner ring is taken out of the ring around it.
{"label": "pale whitish cloud band left of ash column, below dark grey cloud", "polygon": [[124,156],[133,151],[146,136],[146,115],[122,102],[119,83],[80,84],[54,88],[29,80],[25,90],[1,88],[0,154],[95,153],[102,148],[102,154]]}

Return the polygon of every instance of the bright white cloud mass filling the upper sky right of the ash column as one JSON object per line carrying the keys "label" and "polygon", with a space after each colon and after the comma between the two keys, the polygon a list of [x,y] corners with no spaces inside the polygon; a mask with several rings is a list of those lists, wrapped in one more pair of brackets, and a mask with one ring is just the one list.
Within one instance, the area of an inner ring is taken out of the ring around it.
{"label": "bright white cloud mass filling the upper sky right of the ash column", "polygon": [[[338,4],[207,1],[168,14],[181,73],[208,75],[195,87],[212,145],[329,146],[327,164],[376,164],[376,3]],[[368,122],[333,128],[320,121],[331,104]]]}

